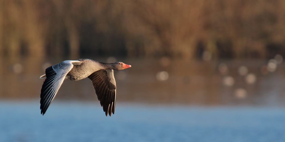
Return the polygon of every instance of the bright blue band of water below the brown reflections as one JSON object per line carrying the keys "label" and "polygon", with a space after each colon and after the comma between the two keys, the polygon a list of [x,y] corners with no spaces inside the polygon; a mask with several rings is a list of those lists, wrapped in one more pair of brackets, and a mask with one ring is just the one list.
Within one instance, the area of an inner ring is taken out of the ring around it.
{"label": "bright blue band of water below the brown reflections", "polygon": [[285,108],[116,104],[106,117],[97,103],[0,102],[2,142],[285,140]]}

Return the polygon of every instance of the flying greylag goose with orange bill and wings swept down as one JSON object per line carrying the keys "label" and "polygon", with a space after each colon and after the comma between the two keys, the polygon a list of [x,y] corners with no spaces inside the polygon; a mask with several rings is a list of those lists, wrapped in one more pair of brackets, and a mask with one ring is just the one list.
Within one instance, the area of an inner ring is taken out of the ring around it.
{"label": "flying greylag goose with orange bill and wings swept down", "polygon": [[113,70],[123,70],[131,65],[123,62],[102,63],[91,59],[66,60],[46,68],[46,78],[40,91],[40,109],[44,115],[63,80],[81,80],[88,77],[94,86],[106,116],[115,112],[116,82]]}

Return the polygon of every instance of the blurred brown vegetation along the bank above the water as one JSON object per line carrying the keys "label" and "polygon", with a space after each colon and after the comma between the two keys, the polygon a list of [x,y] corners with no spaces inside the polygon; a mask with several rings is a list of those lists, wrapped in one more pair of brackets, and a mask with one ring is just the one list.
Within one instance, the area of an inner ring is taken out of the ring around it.
{"label": "blurred brown vegetation along the bank above the water", "polygon": [[282,0],[0,0],[5,56],[285,55]]}

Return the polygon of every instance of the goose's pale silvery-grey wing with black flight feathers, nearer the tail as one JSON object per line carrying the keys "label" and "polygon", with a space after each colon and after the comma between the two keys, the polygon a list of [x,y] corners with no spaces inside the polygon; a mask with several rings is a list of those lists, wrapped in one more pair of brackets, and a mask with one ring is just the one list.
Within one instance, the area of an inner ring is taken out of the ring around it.
{"label": "goose's pale silvery-grey wing with black flight feathers, nearer the tail", "polygon": [[40,114],[44,115],[48,106],[50,106],[66,74],[73,68],[73,62],[80,61],[66,60],[46,69],[46,80],[44,80],[40,91]]}

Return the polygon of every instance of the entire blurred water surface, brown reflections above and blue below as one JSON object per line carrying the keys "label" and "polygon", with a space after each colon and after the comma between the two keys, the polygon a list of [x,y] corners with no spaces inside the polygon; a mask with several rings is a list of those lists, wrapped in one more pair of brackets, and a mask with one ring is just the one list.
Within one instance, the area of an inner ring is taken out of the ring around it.
{"label": "entire blurred water surface, brown reflections above and blue below", "polygon": [[67,59],[0,60],[0,141],[285,139],[285,64],[276,60],[94,59],[132,65],[114,71],[111,117],[87,78],[64,81],[40,115],[39,77]]}

